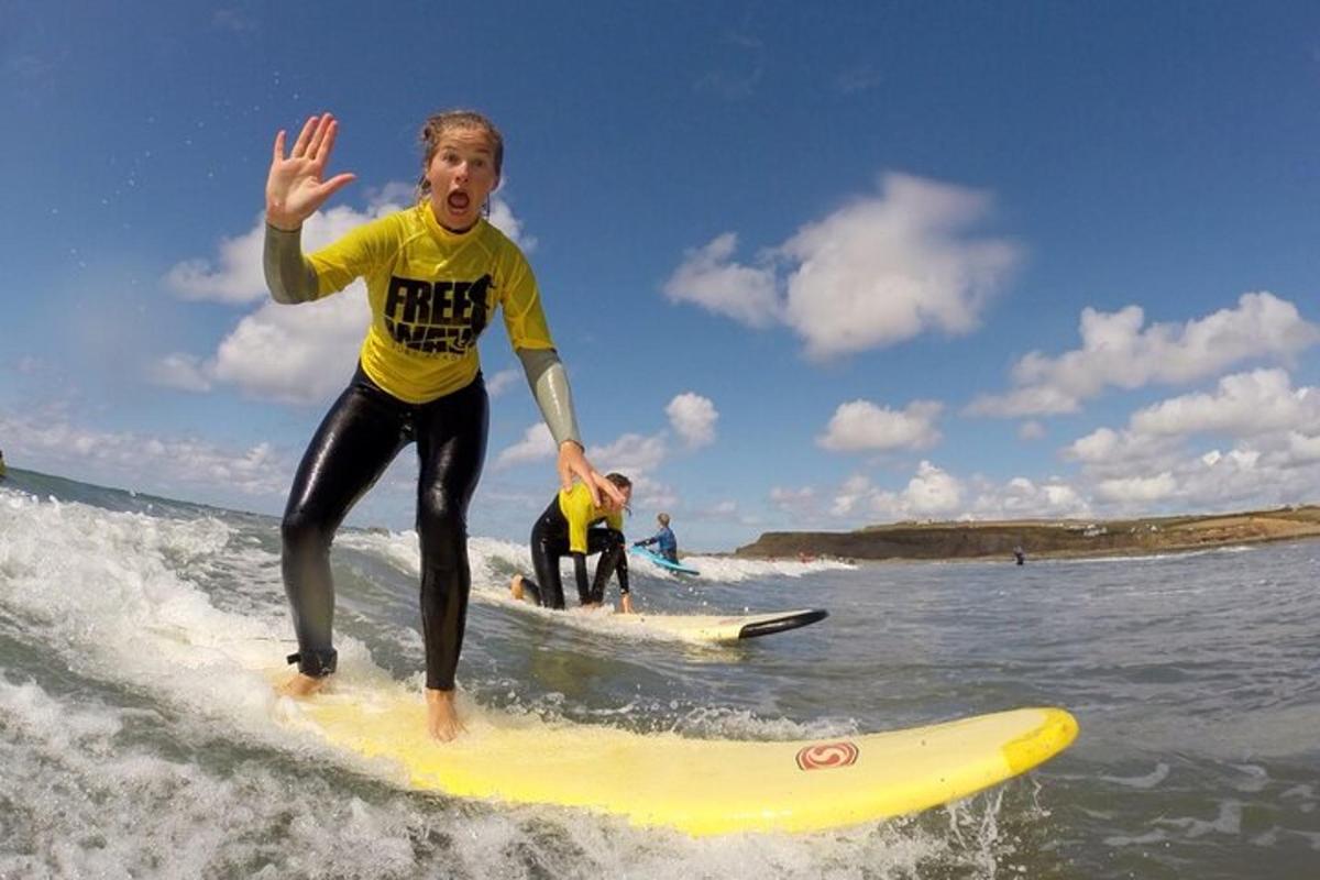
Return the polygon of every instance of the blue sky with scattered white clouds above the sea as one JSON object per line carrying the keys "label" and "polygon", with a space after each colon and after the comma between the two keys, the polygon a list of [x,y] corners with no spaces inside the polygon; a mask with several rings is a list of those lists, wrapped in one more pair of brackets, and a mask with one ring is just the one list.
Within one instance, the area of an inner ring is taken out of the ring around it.
{"label": "blue sky with scattered white clouds above the sea", "polygon": [[[1320,7],[0,1],[0,449],[279,513],[360,288],[272,303],[279,128],[407,204],[506,137],[593,462],[722,550],[772,529],[1320,500]],[[474,534],[556,487],[499,323]],[[352,521],[407,528],[412,453]]]}

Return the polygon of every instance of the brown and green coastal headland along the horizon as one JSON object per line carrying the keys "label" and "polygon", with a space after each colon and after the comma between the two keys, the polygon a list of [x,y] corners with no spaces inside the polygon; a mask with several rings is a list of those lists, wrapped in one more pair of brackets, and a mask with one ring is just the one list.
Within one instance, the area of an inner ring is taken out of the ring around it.
{"label": "brown and green coastal headland along the horizon", "polygon": [[895,522],[854,532],[766,532],[737,557],[845,559],[1011,559],[1177,553],[1320,538],[1320,507],[1131,520]]}

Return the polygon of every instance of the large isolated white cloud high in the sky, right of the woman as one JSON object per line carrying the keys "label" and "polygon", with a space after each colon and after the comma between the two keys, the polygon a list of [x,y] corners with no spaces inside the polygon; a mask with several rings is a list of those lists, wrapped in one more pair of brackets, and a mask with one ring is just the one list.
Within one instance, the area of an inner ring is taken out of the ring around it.
{"label": "large isolated white cloud high in the sky, right of the woman", "polygon": [[804,226],[755,267],[733,260],[731,232],[688,252],[664,290],[751,327],[783,322],[812,358],[970,332],[1020,260],[1007,240],[965,235],[989,207],[983,193],[886,174],[878,195]]}

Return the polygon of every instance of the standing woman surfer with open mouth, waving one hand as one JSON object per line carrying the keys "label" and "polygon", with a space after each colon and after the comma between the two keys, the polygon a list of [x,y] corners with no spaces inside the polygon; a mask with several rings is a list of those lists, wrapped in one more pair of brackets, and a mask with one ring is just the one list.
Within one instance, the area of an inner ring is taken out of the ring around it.
{"label": "standing woman surfer with open mouth, waving one hand", "polygon": [[532,269],[484,218],[504,157],[495,125],[469,111],[428,119],[416,203],[304,256],[302,223],[355,177],[326,175],[338,129],[330,113],[313,116],[288,156],[281,131],[265,183],[264,268],[276,302],[319,299],[360,277],[371,305],[356,373],[313,435],[284,511],[284,586],[298,637],[289,661],[298,672],[281,691],[312,694],[335,670],[330,542],[354,503],[416,443],[426,726],[450,740],[463,730],[454,670],[471,587],[467,504],[488,429],[477,338],[496,307],[554,438],[562,486],[582,480],[593,503],[622,504],[623,495],[586,460]]}

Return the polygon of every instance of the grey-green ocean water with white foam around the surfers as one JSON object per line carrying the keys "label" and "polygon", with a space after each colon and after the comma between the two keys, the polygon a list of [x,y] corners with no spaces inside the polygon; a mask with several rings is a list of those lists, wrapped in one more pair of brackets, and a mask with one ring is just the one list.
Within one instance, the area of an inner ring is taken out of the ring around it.
{"label": "grey-green ocean water with white foam around the surfers", "polygon": [[[478,499],[479,503],[479,499]],[[531,515],[529,515],[531,516]],[[342,674],[421,689],[416,536],[345,530]],[[639,604],[824,607],[738,648],[510,607],[475,537],[470,711],[804,739],[1018,706],[1077,743],[920,815],[692,839],[420,794],[279,722],[279,524],[11,470],[0,483],[0,877],[1320,876],[1320,544],[1155,558],[634,566]]]}

